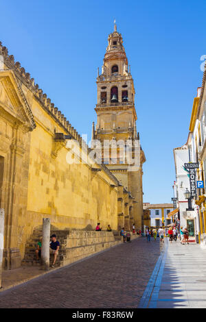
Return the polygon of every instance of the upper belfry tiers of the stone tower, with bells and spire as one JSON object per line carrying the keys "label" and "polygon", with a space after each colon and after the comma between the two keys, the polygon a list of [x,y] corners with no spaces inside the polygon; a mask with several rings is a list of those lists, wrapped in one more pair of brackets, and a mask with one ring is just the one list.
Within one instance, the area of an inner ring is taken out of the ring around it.
{"label": "upper belfry tiers of the stone tower, with bells and spire", "polygon": [[[127,133],[134,133],[137,114],[135,111],[135,88],[130,66],[124,51],[122,35],[114,32],[108,36],[108,46],[104,55],[102,74],[98,75],[98,103],[95,111],[98,114],[96,126],[97,137],[104,139],[104,134],[117,129],[116,139]],[[127,129],[127,131],[126,131]],[[106,132],[105,132],[106,131]]]}

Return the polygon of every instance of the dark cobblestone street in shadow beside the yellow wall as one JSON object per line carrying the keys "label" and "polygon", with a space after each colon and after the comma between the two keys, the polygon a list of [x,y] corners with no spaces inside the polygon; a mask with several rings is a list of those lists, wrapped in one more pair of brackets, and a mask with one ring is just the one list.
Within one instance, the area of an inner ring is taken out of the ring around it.
{"label": "dark cobblestone street in shadow beside the yellow wall", "polygon": [[133,240],[0,293],[0,308],[137,308],[160,255]]}

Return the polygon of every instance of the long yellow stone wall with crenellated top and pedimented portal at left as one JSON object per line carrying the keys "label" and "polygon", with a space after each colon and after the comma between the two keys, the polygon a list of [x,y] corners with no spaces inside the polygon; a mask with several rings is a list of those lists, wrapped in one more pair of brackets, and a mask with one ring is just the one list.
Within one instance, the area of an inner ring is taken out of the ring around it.
{"label": "long yellow stone wall with crenellated top and pedimented portal at left", "polygon": [[45,217],[57,230],[94,230],[98,222],[103,230],[108,224],[113,231],[129,229],[139,198],[139,191],[133,190],[134,197],[129,190],[133,176],[130,184],[120,182],[93,159],[80,134],[1,42],[0,58],[3,267],[21,265],[25,243]]}

